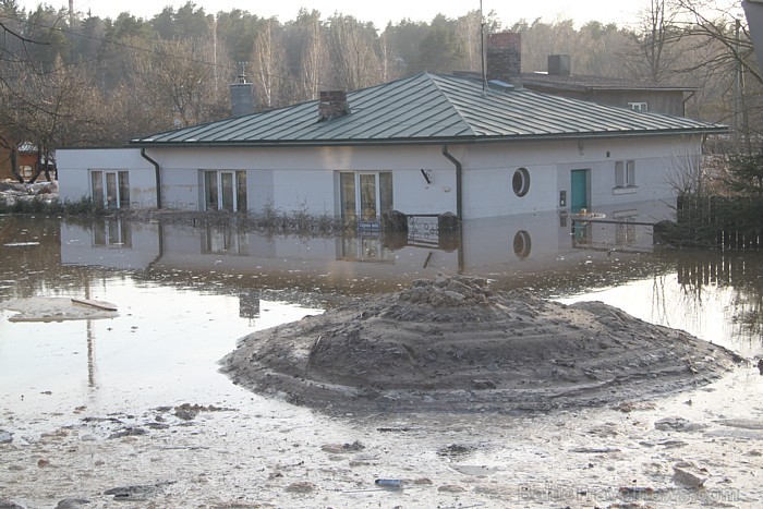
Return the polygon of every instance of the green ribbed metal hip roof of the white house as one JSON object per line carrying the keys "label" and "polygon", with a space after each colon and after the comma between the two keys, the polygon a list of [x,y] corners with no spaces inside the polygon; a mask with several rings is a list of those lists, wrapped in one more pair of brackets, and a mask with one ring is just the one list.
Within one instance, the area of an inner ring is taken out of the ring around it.
{"label": "green ribbed metal hip roof of the white house", "polygon": [[318,121],[318,101],[155,134],[140,146],[315,146],[480,143],[596,136],[712,134],[724,125],[632,111],[528,89],[423,73],[348,93],[351,113]]}

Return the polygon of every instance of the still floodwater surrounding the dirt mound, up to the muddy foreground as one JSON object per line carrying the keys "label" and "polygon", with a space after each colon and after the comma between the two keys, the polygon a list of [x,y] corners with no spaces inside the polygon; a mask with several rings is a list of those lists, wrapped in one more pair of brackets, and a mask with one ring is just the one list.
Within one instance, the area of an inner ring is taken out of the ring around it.
{"label": "still floodwater surrounding the dirt mound, up to the muddy foreground", "polygon": [[[335,239],[109,218],[0,217],[0,304],[33,296],[86,298],[118,307],[114,318],[62,322],[15,322],[10,319],[14,313],[0,312],[0,429],[34,437],[71,424],[83,409],[93,415],[140,414],[182,403],[302,420],[289,429],[310,426],[307,421],[319,417],[234,386],[218,373],[217,362],[253,331],[437,272],[484,276],[496,289],[521,288],[562,302],[600,300],[751,361],[763,356],[759,253],[659,252],[647,231],[586,228],[580,232],[558,217],[528,216],[467,223],[458,239],[439,235],[432,225],[402,238],[367,231]],[[749,376],[743,378],[748,388],[760,391],[756,377]],[[707,404],[725,400],[723,389],[704,398]],[[586,423],[584,413],[568,417]],[[425,421],[419,427],[391,421],[390,429],[408,432],[399,438],[412,443],[421,438],[415,431],[425,428]],[[548,435],[533,441],[532,433],[520,431],[521,423],[491,426],[530,440],[521,447],[547,447]],[[558,421],[533,425],[564,435],[555,427],[561,426]],[[331,433],[350,433],[346,424],[332,426]],[[452,423],[433,426],[448,431],[446,440],[460,429]],[[528,456],[522,458],[532,469]],[[498,461],[495,456],[482,460]],[[621,462],[627,465],[628,459]],[[531,475],[538,483],[541,477]],[[299,505],[274,497],[276,505]]]}

